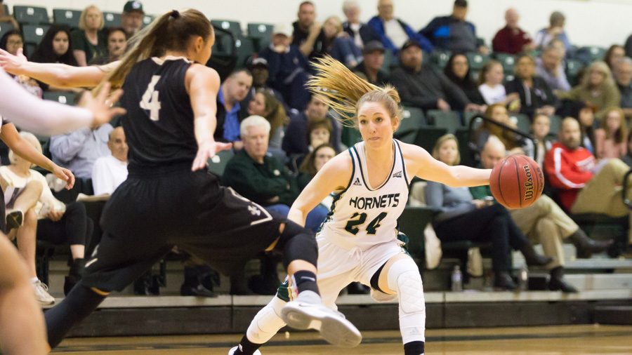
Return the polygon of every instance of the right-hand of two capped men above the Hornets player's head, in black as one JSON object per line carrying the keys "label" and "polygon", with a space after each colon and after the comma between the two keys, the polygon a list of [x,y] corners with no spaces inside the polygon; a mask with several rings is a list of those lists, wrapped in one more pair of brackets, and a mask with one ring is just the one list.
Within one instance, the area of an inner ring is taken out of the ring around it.
{"label": "right-hand of two capped men above the Hornets player's head, in black", "polygon": [[475,109],[461,88],[442,72],[432,67],[422,67],[422,61],[423,53],[419,43],[406,41],[400,50],[400,66],[390,73],[390,81],[399,91],[404,105],[423,110]]}

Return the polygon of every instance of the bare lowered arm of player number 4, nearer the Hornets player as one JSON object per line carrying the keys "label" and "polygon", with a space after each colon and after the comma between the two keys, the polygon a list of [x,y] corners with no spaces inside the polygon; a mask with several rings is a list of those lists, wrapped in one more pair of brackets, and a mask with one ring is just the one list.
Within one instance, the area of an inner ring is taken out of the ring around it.
{"label": "bare lowered arm of player number 4, nearer the Hornets player", "polygon": [[219,83],[219,74],[204,65],[191,65],[185,76],[185,87],[191,98],[191,107],[195,117],[197,156],[191,167],[193,171],[205,168],[206,163],[217,152],[232,147],[231,143],[216,142],[213,138],[217,124]]}

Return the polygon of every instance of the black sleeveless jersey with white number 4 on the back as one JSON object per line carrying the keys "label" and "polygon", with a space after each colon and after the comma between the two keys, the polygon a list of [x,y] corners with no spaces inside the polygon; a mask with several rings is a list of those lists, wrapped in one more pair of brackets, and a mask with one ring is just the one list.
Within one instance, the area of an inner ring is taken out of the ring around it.
{"label": "black sleeveless jersey with white number 4 on the back", "polygon": [[192,162],[197,154],[193,109],[185,88],[192,62],[148,58],[136,63],[123,84],[121,106],[129,167]]}

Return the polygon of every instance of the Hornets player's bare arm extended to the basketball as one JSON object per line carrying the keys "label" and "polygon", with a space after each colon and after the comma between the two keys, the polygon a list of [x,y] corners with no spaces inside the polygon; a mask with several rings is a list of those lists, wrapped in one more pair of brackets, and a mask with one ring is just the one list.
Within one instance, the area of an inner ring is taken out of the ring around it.
{"label": "Hornets player's bare arm extended to the basketball", "polygon": [[476,169],[469,166],[448,166],[434,159],[426,149],[402,144],[404,159],[411,175],[423,180],[440,182],[449,187],[473,187],[489,185],[492,169]]}

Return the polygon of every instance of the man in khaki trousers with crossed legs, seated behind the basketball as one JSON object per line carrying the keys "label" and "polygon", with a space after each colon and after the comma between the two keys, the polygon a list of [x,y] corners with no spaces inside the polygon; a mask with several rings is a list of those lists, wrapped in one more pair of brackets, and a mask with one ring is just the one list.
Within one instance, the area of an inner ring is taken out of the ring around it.
{"label": "man in khaki trousers with crossed legs, seated behind the basketball", "polygon": [[[480,154],[482,168],[494,168],[494,165],[501,161],[505,154],[503,142],[492,136],[485,143]],[[488,185],[470,187],[470,192],[474,199],[492,197]],[[590,257],[591,253],[602,252],[612,244],[612,241],[593,241],[593,239],[588,238],[577,223],[546,195],[542,195],[532,206],[509,210],[509,213],[515,225],[529,237],[532,243],[541,243],[544,255],[553,257],[553,262],[546,265],[546,269],[551,272],[551,280],[548,283],[550,290],[561,290],[565,293],[577,292],[577,289],[563,280],[564,250],[562,249],[562,242],[565,239],[575,245],[578,257]]]}

